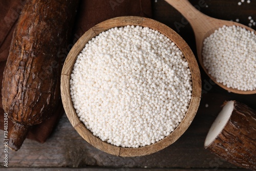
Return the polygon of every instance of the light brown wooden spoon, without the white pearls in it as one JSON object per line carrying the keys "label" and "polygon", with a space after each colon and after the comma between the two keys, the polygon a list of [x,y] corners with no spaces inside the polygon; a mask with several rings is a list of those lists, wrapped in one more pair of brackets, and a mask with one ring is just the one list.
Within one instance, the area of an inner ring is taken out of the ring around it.
{"label": "light brown wooden spoon, without the white pearls in it", "polygon": [[214,31],[219,29],[220,27],[223,27],[224,25],[226,26],[236,25],[253,32],[255,32],[255,30],[236,22],[229,22],[227,20],[221,20],[221,19],[209,17],[201,13],[195,7],[193,7],[187,0],[165,0],[165,1],[168,4],[172,5],[174,8],[176,8],[188,20],[191,27],[193,28],[195,37],[196,37],[198,59],[199,59],[200,65],[202,66],[204,71],[207,73],[207,75],[214,82],[216,82],[220,87],[222,87],[227,91],[238,93],[238,94],[255,94],[256,90],[242,91],[238,89],[227,88],[222,83],[217,82],[216,78],[208,74],[207,69],[204,67],[203,61],[202,61],[202,48],[203,48],[204,39],[208,37],[210,34],[214,33]]}

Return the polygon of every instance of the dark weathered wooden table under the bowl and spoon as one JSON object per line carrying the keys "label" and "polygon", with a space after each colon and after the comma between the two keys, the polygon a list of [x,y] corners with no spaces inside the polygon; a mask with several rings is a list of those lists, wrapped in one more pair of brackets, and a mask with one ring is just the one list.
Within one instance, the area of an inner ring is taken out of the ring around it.
{"label": "dark weathered wooden table under the bowl and spoon", "polygon": [[[175,0],[174,0],[175,1]],[[250,4],[230,0],[190,1],[193,5],[205,2],[200,7],[203,13],[226,20],[236,20],[248,25],[248,16],[256,21],[256,1]],[[153,18],[177,31],[196,55],[196,44],[193,30],[182,15],[163,0],[152,1]],[[256,29],[256,26],[253,26]],[[200,68],[201,69],[201,68]],[[228,93],[214,84],[202,71],[202,99],[198,113],[188,130],[174,144],[162,151],[143,157],[116,157],[94,148],[84,141],[70,124],[66,115],[60,119],[56,129],[47,142],[41,144],[26,139],[17,152],[9,151],[9,170],[247,170],[237,168],[211,154],[203,147],[204,139],[210,125],[221,110],[225,100],[237,100],[256,110],[256,94],[239,95]],[[208,105],[208,107],[207,107]],[[3,138],[0,131],[0,139]],[[0,149],[3,160],[3,145]],[[11,167],[11,168],[10,168]],[[149,169],[150,168],[150,169]],[[0,170],[3,168],[1,161]]]}

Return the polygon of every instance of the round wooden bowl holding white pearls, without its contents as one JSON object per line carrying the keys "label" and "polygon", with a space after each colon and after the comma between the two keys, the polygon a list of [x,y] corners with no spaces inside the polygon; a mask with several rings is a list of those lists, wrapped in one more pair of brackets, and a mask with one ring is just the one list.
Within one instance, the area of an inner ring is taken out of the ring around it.
{"label": "round wooden bowl holding white pearls, without its contents", "polygon": [[[154,30],[158,30],[160,33],[167,36],[170,40],[174,41],[178,48],[183,52],[188,65],[191,71],[192,77],[192,98],[189,104],[188,111],[183,118],[182,122],[176,127],[176,129],[166,136],[164,139],[144,147],[138,148],[129,148],[129,147],[117,147],[110,143],[104,142],[100,140],[98,137],[94,136],[89,130],[87,130],[86,126],[79,120],[75,109],[73,107],[73,103],[71,101],[70,96],[70,75],[73,70],[74,63],[76,61],[77,56],[87,44],[87,42],[101,33],[102,31],[109,30],[114,27],[122,27],[127,25],[134,26],[142,26],[149,27]],[[66,114],[75,128],[75,130],[80,134],[84,140],[92,144],[94,147],[104,151],[106,153],[115,155],[115,156],[123,156],[123,157],[134,157],[134,156],[144,156],[149,155],[155,152],[160,151],[161,149],[167,147],[168,145],[174,143],[188,128],[192,120],[194,119],[196,112],[198,110],[198,106],[201,99],[201,76],[198,67],[198,63],[196,58],[188,47],[186,42],[172,29],[169,27],[157,22],[156,20],[137,17],[137,16],[123,16],[116,17],[109,20],[105,20],[104,22],[94,26],[86,33],[84,33],[80,39],[73,46],[71,51],[69,52],[67,59],[64,63],[62,73],[61,73],[61,98],[63,102],[64,109]]]}

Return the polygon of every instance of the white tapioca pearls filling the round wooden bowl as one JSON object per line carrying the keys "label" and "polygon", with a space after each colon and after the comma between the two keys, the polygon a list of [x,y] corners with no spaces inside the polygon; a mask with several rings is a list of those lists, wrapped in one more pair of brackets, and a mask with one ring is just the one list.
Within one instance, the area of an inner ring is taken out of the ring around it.
{"label": "white tapioca pearls filling the round wooden bowl", "polygon": [[112,28],[78,55],[70,95],[93,135],[137,148],[160,141],[180,124],[192,96],[191,72],[175,42],[157,30]]}

